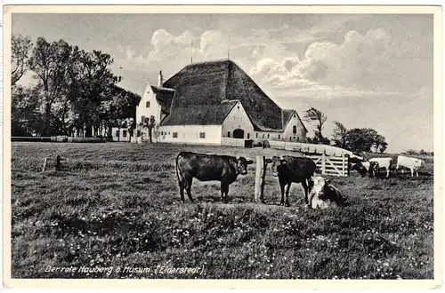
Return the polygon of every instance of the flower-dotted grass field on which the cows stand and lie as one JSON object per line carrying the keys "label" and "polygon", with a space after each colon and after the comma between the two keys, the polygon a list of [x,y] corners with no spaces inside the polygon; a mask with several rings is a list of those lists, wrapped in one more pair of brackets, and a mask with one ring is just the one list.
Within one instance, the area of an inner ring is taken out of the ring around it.
{"label": "flower-dotted grass field on which the cows stand and lie", "polygon": [[[270,170],[266,204],[254,203],[255,164],[231,185],[229,203],[220,200],[219,182],[196,179],[196,203],[181,203],[174,173],[181,150],[252,159],[287,153],[13,143],[12,278],[433,279],[432,157],[419,178],[333,178],[352,205],[306,210],[296,185],[292,206],[277,205]],[[63,170],[50,161],[40,172],[44,157],[56,154],[69,158]],[[44,272],[48,265],[79,269]],[[201,270],[168,273],[158,265]],[[82,266],[113,268],[85,273]]]}

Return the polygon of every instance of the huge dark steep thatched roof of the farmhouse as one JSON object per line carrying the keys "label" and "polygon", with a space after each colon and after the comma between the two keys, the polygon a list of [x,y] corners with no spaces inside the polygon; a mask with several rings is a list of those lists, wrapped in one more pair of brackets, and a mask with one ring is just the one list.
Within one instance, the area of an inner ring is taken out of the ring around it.
{"label": "huge dark steep thatched roof of the farmhouse", "polygon": [[190,64],[163,87],[175,93],[171,112],[161,125],[221,124],[235,105],[227,100],[241,102],[255,131],[283,131],[283,115],[289,115],[229,59]]}

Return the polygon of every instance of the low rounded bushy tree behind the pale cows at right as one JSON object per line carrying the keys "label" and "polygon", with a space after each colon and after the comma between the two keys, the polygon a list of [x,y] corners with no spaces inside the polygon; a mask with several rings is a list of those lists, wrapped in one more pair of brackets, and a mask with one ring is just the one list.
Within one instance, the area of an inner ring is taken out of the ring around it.
{"label": "low rounded bushy tree behind the pale cows at right", "polygon": [[346,132],[345,148],[352,152],[384,153],[388,144],[384,137],[370,128],[354,128]]}

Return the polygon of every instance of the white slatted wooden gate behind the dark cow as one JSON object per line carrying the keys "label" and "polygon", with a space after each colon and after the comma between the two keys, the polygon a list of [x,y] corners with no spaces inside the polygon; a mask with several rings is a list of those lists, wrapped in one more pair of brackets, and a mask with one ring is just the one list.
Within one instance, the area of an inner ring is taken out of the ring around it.
{"label": "white slatted wooden gate behind the dark cow", "polygon": [[320,169],[322,175],[349,176],[349,155],[328,156],[326,154],[306,154]]}

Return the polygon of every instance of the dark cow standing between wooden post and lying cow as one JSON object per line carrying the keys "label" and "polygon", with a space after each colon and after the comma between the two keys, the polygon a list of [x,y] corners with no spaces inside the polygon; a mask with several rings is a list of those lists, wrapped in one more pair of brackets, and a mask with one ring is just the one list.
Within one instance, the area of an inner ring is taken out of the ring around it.
{"label": "dark cow standing between wooden post and lying cow", "polygon": [[304,189],[304,202],[309,203],[308,194],[312,189],[312,177],[317,168],[315,162],[310,158],[285,155],[283,157],[273,156],[271,163],[272,175],[278,176],[281,189],[281,202],[284,205],[284,187],[286,188],[286,206],[289,204],[289,190],[292,182],[301,183]]}

